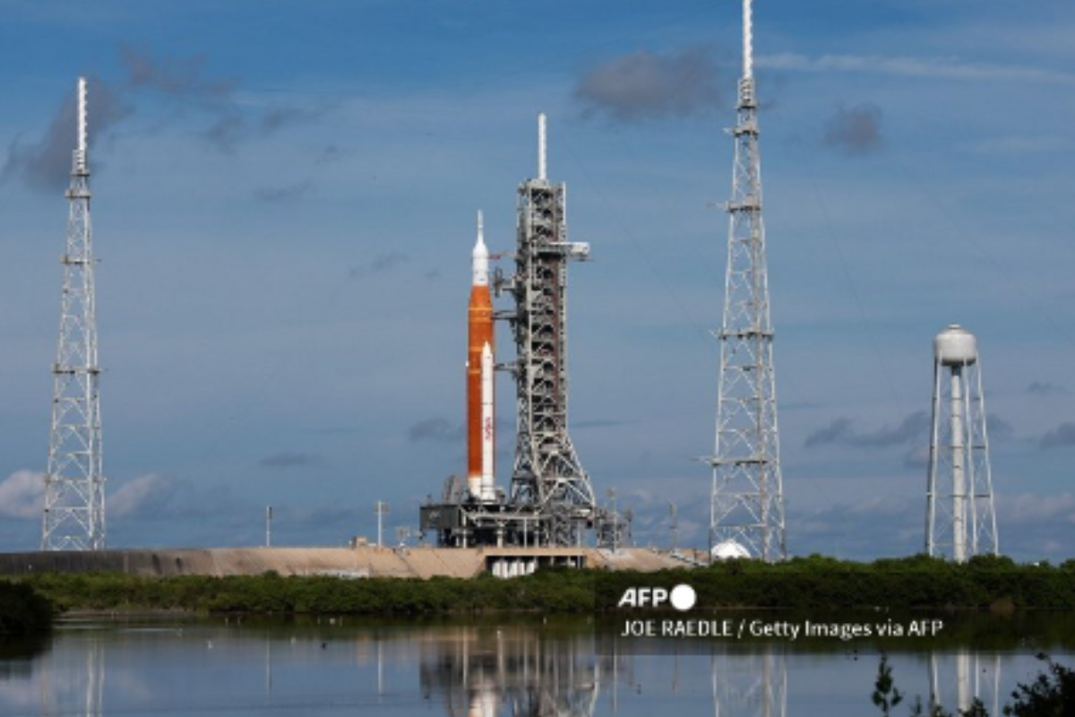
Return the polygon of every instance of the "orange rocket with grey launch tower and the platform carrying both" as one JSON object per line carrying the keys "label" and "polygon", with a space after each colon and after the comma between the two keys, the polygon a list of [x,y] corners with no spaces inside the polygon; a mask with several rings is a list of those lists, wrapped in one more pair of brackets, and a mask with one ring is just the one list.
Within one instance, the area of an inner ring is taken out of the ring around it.
{"label": "orange rocket with grey launch tower and the platform carrying both", "polygon": [[[545,115],[538,124],[538,177],[518,187],[515,272],[493,272],[497,297],[514,307],[489,312],[488,252],[478,220],[473,254],[468,360],[468,476],[448,478],[439,503],[420,508],[420,530],[444,547],[582,546],[629,540],[629,517],[599,507],[589,475],[568,433],[568,262],[586,260],[589,244],[568,241],[564,184],[546,176]],[[510,492],[492,485],[492,320],[507,321],[515,360],[494,364],[515,379],[516,444]],[[481,362],[481,363],[479,363]]]}

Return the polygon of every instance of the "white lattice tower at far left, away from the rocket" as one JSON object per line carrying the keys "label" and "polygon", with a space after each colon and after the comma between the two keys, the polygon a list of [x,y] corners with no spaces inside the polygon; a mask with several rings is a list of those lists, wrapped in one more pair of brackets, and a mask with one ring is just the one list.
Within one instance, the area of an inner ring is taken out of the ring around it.
{"label": "white lattice tower at far left, away from the rocket", "polygon": [[71,170],[60,338],[53,364],[53,426],[45,474],[42,550],[104,548],[104,473],[86,158],[86,80],[78,78],[78,135]]}

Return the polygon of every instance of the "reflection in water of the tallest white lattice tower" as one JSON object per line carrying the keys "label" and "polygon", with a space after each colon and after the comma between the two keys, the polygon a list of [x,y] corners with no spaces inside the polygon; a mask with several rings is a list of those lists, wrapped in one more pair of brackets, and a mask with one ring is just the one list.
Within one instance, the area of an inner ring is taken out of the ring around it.
{"label": "reflection in water of the tallest white lattice tower", "polygon": [[713,656],[715,717],[786,717],[787,656],[775,645],[766,645],[763,650]]}

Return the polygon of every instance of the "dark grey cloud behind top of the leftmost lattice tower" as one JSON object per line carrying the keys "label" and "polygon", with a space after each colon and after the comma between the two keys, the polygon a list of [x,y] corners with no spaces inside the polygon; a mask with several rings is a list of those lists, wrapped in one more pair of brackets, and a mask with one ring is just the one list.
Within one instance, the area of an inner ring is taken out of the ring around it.
{"label": "dark grey cloud behind top of the leftmost lattice tower", "polygon": [[[133,107],[120,92],[99,77],[87,77],[86,84],[89,144],[92,148],[98,139],[130,115]],[[41,139],[34,142],[16,139],[11,143],[0,178],[4,182],[17,180],[37,191],[61,190],[71,175],[71,153],[77,141],[76,114],[77,99],[72,85]]]}

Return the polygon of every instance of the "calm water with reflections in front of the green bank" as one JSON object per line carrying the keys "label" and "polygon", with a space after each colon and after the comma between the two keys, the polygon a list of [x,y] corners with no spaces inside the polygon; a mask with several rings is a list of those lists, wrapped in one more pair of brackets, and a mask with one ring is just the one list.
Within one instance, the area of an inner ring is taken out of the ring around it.
{"label": "calm water with reflections in front of the green bank", "polygon": [[[884,648],[903,692],[928,696],[932,679],[949,709],[977,693],[1000,714],[1043,666],[1038,651],[1073,662],[1070,615],[945,620],[941,637]],[[66,621],[47,639],[0,642],[0,715],[879,714],[874,640],[631,642],[615,639],[621,629],[540,617]]]}

